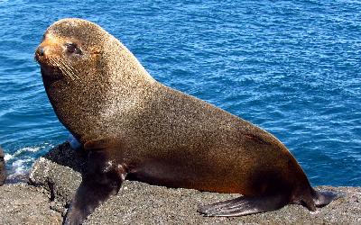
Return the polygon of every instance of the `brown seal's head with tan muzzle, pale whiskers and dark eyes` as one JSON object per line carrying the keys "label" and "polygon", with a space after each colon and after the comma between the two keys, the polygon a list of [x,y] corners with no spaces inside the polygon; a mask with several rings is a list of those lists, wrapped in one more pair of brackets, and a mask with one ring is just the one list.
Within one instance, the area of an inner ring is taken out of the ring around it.
{"label": "brown seal's head with tan muzzle, pale whiskers and dark eyes", "polygon": [[[80,19],[64,19],[45,31],[35,59],[42,69],[45,84],[66,82],[76,85],[99,74],[95,71],[109,34],[97,24]],[[84,69],[88,68],[88,69]],[[93,71],[89,71],[93,69]]]}

